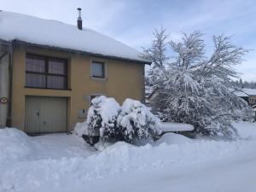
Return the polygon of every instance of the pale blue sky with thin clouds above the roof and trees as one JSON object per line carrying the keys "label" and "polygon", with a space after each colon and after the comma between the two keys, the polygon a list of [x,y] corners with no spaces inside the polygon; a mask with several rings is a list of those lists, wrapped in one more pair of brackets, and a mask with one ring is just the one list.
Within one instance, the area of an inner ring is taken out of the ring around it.
{"label": "pale blue sky with thin clouds above the roof and trees", "polygon": [[256,81],[256,1],[254,0],[0,0],[0,9],[76,25],[82,8],[83,26],[142,50],[155,29],[164,26],[170,39],[183,32],[201,30],[207,52],[212,36],[231,36],[245,49],[245,61],[237,68],[241,78]]}

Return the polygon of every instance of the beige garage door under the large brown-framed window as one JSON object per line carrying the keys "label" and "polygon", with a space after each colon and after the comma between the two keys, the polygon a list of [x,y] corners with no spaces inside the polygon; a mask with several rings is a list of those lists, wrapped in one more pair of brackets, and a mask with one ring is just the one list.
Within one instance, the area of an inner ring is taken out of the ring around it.
{"label": "beige garage door under the large brown-framed window", "polygon": [[31,134],[67,131],[67,98],[26,96],[25,130]]}

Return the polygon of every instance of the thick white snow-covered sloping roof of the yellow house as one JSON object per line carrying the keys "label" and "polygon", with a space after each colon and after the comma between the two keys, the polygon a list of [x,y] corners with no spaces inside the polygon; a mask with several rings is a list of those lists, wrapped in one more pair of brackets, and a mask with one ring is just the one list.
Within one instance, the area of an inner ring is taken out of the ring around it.
{"label": "thick white snow-covered sloping roof of the yellow house", "polygon": [[127,61],[150,63],[133,49],[119,41],[89,28],[79,30],[77,26],[56,20],[0,11],[0,39],[18,40],[29,44],[72,49],[91,55],[102,55]]}

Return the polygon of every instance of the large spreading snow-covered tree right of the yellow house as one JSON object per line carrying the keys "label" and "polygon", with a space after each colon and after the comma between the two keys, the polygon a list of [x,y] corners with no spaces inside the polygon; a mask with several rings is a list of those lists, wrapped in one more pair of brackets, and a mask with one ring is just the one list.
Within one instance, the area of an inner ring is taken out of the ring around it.
{"label": "large spreading snow-covered tree right of the yellow house", "polygon": [[162,120],[195,125],[204,135],[232,137],[232,120],[252,118],[247,103],[231,89],[232,78],[238,77],[234,67],[247,50],[220,35],[212,38],[212,54],[207,56],[201,37],[195,31],[183,34],[179,43],[170,42],[176,55],[160,74],[154,73],[154,108]]}

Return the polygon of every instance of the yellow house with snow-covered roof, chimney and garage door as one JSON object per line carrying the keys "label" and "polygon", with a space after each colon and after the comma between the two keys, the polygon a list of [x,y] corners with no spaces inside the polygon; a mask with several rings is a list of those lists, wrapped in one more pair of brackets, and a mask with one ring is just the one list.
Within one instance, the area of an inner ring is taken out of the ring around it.
{"label": "yellow house with snow-covered roof, chimney and garage door", "polygon": [[95,96],[144,101],[136,49],[89,28],[0,11],[0,126],[72,131]]}

